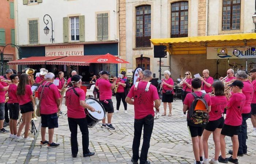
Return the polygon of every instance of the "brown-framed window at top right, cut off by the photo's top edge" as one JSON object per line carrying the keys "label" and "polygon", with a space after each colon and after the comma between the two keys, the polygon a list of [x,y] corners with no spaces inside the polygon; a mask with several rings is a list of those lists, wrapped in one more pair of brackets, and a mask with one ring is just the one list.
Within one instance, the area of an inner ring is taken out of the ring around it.
{"label": "brown-framed window at top right, cut off by the photo's top edge", "polygon": [[222,30],[240,29],[241,0],[223,0]]}

